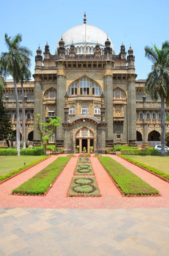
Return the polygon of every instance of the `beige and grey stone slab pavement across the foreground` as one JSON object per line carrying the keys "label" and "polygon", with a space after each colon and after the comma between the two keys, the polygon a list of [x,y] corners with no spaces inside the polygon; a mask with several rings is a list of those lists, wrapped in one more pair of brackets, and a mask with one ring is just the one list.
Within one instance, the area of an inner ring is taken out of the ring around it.
{"label": "beige and grey stone slab pavement across the foreground", "polygon": [[169,255],[169,208],[0,208],[0,255]]}

